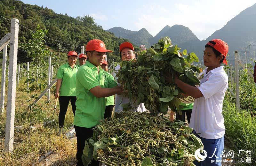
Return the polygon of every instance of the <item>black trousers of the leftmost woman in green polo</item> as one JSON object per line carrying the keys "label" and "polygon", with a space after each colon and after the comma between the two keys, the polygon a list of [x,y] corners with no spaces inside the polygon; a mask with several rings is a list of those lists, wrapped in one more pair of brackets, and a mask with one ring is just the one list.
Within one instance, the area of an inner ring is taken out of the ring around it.
{"label": "black trousers of the leftmost woman in green polo", "polygon": [[59,102],[60,102],[60,113],[59,113],[59,126],[63,127],[65,115],[68,110],[68,103],[71,101],[71,106],[73,110],[73,114],[75,116],[76,112],[76,96],[60,96]]}

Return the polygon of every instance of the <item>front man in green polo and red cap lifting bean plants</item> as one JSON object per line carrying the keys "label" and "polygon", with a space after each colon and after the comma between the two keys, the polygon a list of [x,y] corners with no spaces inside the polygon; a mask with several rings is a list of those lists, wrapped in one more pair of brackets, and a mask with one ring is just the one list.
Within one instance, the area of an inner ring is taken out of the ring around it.
{"label": "front man in green polo and red cap lifting bean plants", "polygon": [[[106,49],[103,41],[89,41],[86,45],[87,62],[76,74],[74,127],[77,137],[77,166],[83,166],[85,140],[92,137],[92,128],[104,119],[106,98],[123,92],[123,88],[117,86],[111,74],[100,67],[106,58],[106,52],[112,51]],[[92,165],[99,165],[99,162],[93,160]]]}

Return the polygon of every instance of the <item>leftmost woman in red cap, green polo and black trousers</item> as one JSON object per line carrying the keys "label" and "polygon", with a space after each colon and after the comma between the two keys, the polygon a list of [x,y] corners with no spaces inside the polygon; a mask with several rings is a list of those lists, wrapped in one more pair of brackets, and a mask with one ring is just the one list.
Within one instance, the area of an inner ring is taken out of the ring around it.
{"label": "leftmost woman in red cap, green polo and black trousers", "polygon": [[57,72],[57,86],[55,98],[59,98],[60,113],[59,113],[59,126],[60,132],[64,125],[65,115],[68,109],[68,103],[71,101],[73,114],[76,111],[76,73],[78,67],[76,64],[77,53],[75,51],[68,52],[68,62],[60,66]]}

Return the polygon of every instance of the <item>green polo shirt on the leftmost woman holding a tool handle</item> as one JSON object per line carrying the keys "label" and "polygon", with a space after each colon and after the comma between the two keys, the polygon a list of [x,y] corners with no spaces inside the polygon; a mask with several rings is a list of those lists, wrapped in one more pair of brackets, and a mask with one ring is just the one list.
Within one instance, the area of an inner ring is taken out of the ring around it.
{"label": "green polo shirt on the leftmost woman holding a tool handle", "polygon": [[78,67],[72,69],[68,63],[60,66],[57,72],[57,79],[62,79],[60,96],[76,96],[76,73]]}

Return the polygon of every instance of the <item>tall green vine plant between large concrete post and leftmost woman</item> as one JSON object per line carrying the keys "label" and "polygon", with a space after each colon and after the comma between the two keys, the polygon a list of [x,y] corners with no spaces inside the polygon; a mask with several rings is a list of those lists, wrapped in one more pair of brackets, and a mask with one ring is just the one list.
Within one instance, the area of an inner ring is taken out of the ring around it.
{"label": "tall green vine plant between large concrete post and leftmost woman", "polygon": [[40,29],[40,26],[38,25],[36,27],[36,32],[32,34],[32,40],[29,40],[28,43],[20,43],[20,48],[28,52],[27,56],[31,58],[33,62],[30,64],[31,72],[28,73],[29,78],[24,82],[25,84],[29,83],[29,87],[26,87],[25,90],[30,97],[27,102],[33,101],[28,105],[28,115],[31,115],[32,111],[39,110],[42,112],[42,109],[35,103],[35,100],[38,99],[38,94],[36,92],[41,92],[47,86],[48,74],[45,68],[48,65],[46,62],[48,61],[48,57],[53,55],[53,53],[45,46],[44,36],[47,33],[48,29]]}

